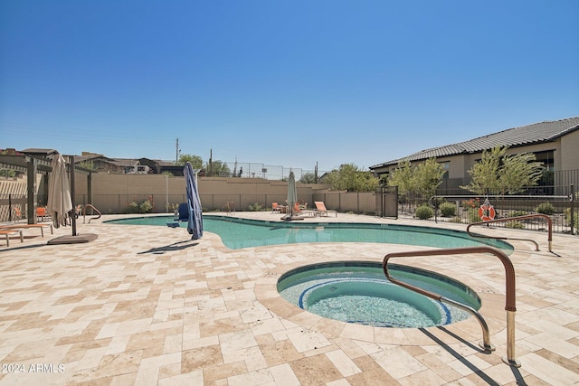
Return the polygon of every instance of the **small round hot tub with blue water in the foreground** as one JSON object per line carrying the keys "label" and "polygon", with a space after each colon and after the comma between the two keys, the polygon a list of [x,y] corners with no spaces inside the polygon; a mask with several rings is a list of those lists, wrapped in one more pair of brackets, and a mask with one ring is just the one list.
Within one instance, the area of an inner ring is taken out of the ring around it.
{"label": "small round hot tub with blue water in the foreground", "polygon": [[[474,309],[479,296],[457,280],[427,270],[389,265],[395,278],[451,298]],[[451,305],[398,287],[384,277],[380,263],[336,261],[293,269],[278,281],[290,303],[316,315],[360,325],[432,327],[470,317]]]}

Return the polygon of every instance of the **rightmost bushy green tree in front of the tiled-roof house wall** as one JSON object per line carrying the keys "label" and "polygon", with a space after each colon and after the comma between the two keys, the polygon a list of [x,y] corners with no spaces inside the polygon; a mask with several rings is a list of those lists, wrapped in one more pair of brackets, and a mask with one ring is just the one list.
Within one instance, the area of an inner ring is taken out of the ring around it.
{"label": "rightmost bushy green tree in front of the tiled-roof house wall", "polygon": [[533,186],[543,174],[543,165],[532,153],[507,155],[508,146],[485,150],[479,162],[469,169],[470,184],[460,186],[474,193],[514,194]]}

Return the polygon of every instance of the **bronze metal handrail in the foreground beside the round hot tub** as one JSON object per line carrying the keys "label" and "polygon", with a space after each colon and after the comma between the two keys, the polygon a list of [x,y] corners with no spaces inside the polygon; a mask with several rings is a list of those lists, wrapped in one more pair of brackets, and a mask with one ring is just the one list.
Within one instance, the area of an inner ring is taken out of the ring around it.
{"label": "bronze metal handrail in the foreground beside the round hot tub", "polygon": [[[411,284],[404,283],[398,279],[392,278],[388,273],[388,260],[392,258],[409,258],[409,257],[422,257],[422,256],[435,256],[435,255],[459,255],[467,253],[490,253],[498,257],[505,267],[506,274],[506,304],[505,310],[507,310],[507,357],[503,357],[503,362],[507,363],[509,366],[520,367],[520,362],[515,358],[515,313],[517,312],[516,306],[516,292],[515,292],[515,268],[513,263],[508,259],[508,256],[501,250],[495,249],[487,246],[480,247],[466,247],[466,248],[451,248],[451,249],[429,249],[429,250],[412,250],[407,252],[392,252],[384,256],[383,268],[384,275],[388,280],[397,284],[401,287],[410,289],[414,292],[424,295],[425,297],[431,297],[432,299],[450,303],[454,306],[457,302],[447,298],[442,297],[439,294],[433,293],[431,291],[414,287]],[[458,303],[458,305],[461,305]],[[470,306],[461,305],[460,308],[471,312],[479,320],[480,326],[483,332],[483,342],[479,344],[485,350],[492,350],[492,344],[490,344],[489,338],[489,327],[476,310]]]}

